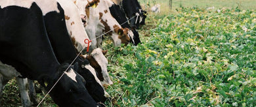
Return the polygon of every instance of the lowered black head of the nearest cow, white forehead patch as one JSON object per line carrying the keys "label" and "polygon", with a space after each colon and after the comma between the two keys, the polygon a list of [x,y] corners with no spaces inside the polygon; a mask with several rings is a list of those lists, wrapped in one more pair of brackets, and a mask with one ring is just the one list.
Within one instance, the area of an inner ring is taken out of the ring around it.
{"label": "lowered black head of the nearest cow, white forehead patch", "polygon": [[[57,74],[42,76],[39,83],[49,91],[67,68],[67,63],[60,65]],[[54,86],[50,95],[58,106],[96,106],[96,102],[91,95],[89,95],[85,84],[86,82],[83,77],[71,67],[64,72],[62,78],[60,78],[58,83]]]}

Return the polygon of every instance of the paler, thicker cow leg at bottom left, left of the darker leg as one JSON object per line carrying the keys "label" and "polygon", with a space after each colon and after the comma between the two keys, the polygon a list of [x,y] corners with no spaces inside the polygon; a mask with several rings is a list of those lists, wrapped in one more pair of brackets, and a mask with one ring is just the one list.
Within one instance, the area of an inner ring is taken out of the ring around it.
{"label": "paler, thicker cow leg at bottom left, left of the darker leg", "polygon": [[20,88],[20,96],[22,100],[22,106],[30,107],[30,97],[28,96],[28,80],[26,78],[16,78],[18,87]]}

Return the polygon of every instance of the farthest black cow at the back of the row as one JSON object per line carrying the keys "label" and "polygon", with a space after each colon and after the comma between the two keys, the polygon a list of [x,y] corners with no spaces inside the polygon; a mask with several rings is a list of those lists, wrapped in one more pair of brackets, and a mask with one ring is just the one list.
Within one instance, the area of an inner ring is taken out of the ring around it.
{"label": "farthest black cow at the back of the row", "polygon": [[125,10],[127,18],[133,18],[129,22],[131,27],[139,29],[140,24],[145,24],[146,11],[142,10],[137,0],[123,0],[121,3],[121,6],[123,7],[123,10]]}

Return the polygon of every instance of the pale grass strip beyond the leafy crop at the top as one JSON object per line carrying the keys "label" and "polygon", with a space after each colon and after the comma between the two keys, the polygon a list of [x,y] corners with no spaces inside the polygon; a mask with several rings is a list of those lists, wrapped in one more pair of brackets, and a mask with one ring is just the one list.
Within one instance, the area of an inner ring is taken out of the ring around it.
{"label": "pale grass strip beyond the leafy crop at the top", "polygon": [[[146,4],[153,6],[158,3],[161,5],[161,10],[168,10],[169,0],[139,0],[141,5],[144,5],[146,8]],[[242,10],[251,10],[256,9],[256,1],[255,0],[173,0],[173,9],[179,7],[215,7],[215,8],[236,8],[239,7]]]}

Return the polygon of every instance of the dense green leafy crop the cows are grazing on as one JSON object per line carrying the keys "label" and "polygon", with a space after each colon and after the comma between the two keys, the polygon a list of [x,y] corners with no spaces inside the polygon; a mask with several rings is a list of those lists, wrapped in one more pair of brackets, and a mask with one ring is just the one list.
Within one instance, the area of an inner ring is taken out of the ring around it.
{"label": "dense green leafy crop the cows are grazing on", "polygon": [[256,11],[178,9],[139,46],[110,49],[106,104],[256,105]]}

